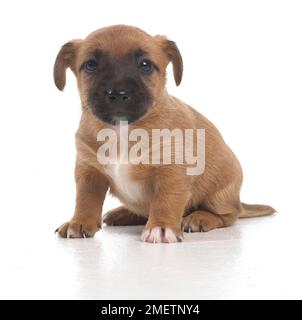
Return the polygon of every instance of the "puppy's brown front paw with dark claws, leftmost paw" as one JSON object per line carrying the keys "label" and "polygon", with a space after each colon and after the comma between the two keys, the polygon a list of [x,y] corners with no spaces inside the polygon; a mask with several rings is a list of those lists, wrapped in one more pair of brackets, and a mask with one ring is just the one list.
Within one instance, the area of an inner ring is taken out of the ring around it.
{"label": "puppy's brown front paw with dark claws, leftmost paw", "polygon": [[61,238],[92,238],[101,229],[101,223],[87,223],[71,220],[62,224],[55,233]]}

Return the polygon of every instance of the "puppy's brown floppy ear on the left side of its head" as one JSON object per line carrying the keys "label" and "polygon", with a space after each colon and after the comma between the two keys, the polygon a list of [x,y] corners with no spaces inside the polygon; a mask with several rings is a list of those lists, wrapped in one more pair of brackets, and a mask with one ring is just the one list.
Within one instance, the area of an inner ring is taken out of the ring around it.
{"label": "puppy's brown floppy ear on the left side of its head", "polygon": [[80,47],[81,40],[73,40],[63,45],[59,51],[53,68],[54,82],[59,90],[63,90],[66,83],[66,69],[70,68],[74,73],[75,58]]}

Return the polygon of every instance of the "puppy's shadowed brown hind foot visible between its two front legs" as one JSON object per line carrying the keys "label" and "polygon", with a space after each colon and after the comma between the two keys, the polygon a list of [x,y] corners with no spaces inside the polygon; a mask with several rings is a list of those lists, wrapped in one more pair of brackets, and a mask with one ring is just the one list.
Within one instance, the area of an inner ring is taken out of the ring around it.
{"label": "puppy's shadowed brown hind foot visible between its two front legs", "polygon": [[136,226],[145,225],[147,218],[139,216],[129,211],[126,207],[121,206],[108,211],[103,216],[103,222],[108,226]]}

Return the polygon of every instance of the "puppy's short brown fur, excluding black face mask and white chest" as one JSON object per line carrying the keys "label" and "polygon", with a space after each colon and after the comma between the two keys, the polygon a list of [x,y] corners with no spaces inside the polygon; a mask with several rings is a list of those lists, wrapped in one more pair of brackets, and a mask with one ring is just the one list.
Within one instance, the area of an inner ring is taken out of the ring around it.
{"label": "puppy's short brown fur, excluding black face mask and white chest", "polygon": [[[100,146],[96,140],[97,133],[111,126],[97,119],[89,110],[87,101],[91,83],[79,69],[87,55],[97,48],[118,58],[138,47],[157,63],[160,72],[152,75],[146,83],[154,98],[152,106],[142,118],[130,124],[129,130],[144,128],[151,132],[153,128],[204,128],[206,168],[202,175],[189,176],[184,165],[132,166],[131,177],[143,185],[145,196],[143,202],[136,203],[119,193],[114,181],[97,161],[96,153]],[[173,64],[178,85],[182,79],[183,64],[176,44],[163,36],[152,37],[129,26],[103,28],[85,40],[74,40],[62,47],[54,67],[54,80],[63,90],[66,69],[72,69],[78,81],[82,117],[76,134],[76,209],[71,221],[57,230],[60,236],[93,236],[101,228],[102,205],[108,189],[124,206],[109,212],[104,219],[106,223],[127,225],[147,221],[146,230],[170,228],[177,239],[181,238],[182,230],[209,231],[229,226],[238,217],[274,212],[269,206],[240,202],[242,170],[239,161],[210,121],[167,93],[165,70],[169,62]],[[166,240],[163,235],[162,242]]]}

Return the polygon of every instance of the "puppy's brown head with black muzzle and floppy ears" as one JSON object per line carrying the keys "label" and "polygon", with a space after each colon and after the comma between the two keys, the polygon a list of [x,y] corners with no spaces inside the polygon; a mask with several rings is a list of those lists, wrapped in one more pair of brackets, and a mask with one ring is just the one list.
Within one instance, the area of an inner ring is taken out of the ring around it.
{"label": "puppy's brown head with black muzzle and floppy ears", "polygon": [[66,43],[55,62],[54,81],[63,90],[66,69],[71,68],[84,108],[113,125],[121,120],[131,123],[161,98],[169,62],[179,85],[182,58],[173,41],[118,25]]}

